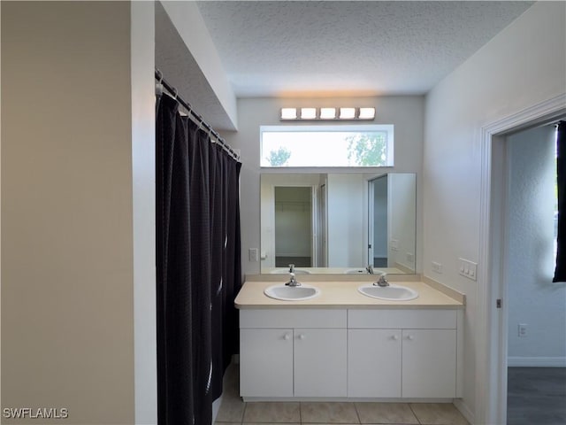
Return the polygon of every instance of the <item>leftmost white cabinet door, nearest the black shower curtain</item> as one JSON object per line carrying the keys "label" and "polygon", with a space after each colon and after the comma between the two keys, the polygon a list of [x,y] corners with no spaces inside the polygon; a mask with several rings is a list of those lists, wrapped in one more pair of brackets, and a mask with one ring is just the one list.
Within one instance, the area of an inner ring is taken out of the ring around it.
{"label": "leftmost white cabinet door, nearest the black shower curtain", "polygon": [[293,329],[240,329],[241,397],[293,397]]}

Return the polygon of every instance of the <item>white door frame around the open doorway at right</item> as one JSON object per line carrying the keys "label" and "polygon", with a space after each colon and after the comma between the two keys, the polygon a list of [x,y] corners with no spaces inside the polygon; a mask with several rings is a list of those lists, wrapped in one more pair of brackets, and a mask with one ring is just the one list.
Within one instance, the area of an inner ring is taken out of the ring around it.
{"label": "white door frame around the open doorway at right", "polygon": [[[476,423],[506,423],[507,419],[507,290],[501,278],[505,233],[502,216],[507,179],[507,134],[557,120],[566,114],[566,94],[535,104],[481,128],[478,310],[476,312]],[[499,167],[499,168],[498,168]],[[494,229],[499,229],[495,231]],[[502,299],[502,308],[496,300]]]}

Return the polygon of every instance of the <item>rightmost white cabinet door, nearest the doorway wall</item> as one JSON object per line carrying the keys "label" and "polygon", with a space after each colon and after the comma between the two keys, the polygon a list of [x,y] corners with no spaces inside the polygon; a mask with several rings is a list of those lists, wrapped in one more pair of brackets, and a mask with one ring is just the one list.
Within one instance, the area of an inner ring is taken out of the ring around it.
{"label": "rightmost white cabinet door, nearest the doorway wall", "polygon": [[403,329],[402,397],[454,398],[455,329]]}

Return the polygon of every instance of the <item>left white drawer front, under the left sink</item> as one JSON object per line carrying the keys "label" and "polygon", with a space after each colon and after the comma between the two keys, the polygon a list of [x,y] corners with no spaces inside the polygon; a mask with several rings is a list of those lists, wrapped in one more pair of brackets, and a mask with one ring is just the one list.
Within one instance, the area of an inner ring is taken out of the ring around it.
{"label": "left white drawer front, under the left sink", "polygon": [[240,310],[240,328],[346,328],[346,310]]}

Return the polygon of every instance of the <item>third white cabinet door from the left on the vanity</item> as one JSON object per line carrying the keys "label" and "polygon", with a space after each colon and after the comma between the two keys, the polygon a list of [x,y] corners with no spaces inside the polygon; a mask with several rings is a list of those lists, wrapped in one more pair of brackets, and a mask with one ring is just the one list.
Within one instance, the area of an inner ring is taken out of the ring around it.
{"label": "third white cabinet door from the left on the vanity", "polygon": [[348,397],[401,397],[400,329],[348,330]]}

